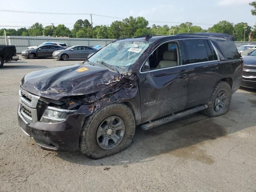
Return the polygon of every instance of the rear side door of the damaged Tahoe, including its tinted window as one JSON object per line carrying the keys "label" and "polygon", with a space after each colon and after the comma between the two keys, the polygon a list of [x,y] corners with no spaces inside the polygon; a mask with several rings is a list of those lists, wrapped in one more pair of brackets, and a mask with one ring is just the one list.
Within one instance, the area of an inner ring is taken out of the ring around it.
{"label": "rear side door of the damaged Tahoe, including its tinted window", "polygon": [[220,69],[218,57],[209,39],[182,41],[188,66],[188,108],[210,100],[213,87],[220,78]]}

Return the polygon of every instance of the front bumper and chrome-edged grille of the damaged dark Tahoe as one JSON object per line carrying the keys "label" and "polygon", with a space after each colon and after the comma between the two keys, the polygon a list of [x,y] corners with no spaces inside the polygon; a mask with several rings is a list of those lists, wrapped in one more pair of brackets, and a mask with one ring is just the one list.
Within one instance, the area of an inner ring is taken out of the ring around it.
{"label": "front bumper and chrome-edged grille of the damaged dark Tahoe", "polygon": [[[30,98],[26,102],[24,97]],[[84,114],[70,114],[62,122],[40,122],[38,102],[40,97],[24,90],[20,92],[18,123],[23,132],[32,137],[38,146],[47,150],[74,151],[79,149],[79,138],[84,123]]]}

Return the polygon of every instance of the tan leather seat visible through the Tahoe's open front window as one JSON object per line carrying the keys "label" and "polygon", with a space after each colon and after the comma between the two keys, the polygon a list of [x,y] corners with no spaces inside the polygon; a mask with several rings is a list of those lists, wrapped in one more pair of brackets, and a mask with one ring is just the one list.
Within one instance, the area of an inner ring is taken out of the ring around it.
{"label": "tan leather seat visible through the Tahoe's open front window", "polygon": [[156,68],[165,68],[178,65],[178,56],[176,51],[165,51],[163,60],[161,60]]}

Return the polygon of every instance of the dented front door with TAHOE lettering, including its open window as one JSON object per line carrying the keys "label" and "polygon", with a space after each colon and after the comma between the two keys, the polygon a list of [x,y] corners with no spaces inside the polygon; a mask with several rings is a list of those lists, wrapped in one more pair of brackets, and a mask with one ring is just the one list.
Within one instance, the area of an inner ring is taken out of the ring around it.
{"label": "dented front door with TAHOE lettering, including its open window", "polygon": [[158,46],[141,67],[138,77],[142,123],[186,107],[188,67],[182,65],[181,52],[180,41],[166,42]]}

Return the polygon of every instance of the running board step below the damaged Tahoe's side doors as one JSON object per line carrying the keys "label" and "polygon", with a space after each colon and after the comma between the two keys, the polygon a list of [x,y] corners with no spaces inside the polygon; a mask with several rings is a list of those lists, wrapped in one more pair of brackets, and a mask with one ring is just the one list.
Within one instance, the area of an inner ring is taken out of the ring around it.
{"label": "running board step below the damaged Tahoe's side doors", "polygon": [[207,105],[200,105],[200,106],[194,107],[192,109],[189,109],[189,110],[177,113],[177,114],[173,114],[172,116],[168,116],[168,117],[156,120],[156,121],[149,122],[147,124],[143,124],[140,127],[144,131],[146,131],[146,130],[152,129],[154,127],[160,126],[162,124],[166,124],[166,123],[172,122],[172,121],[177,120],[179,118],[182,118],[184,116],[187,116],[187,115],[190,115],[190,114],[202,111],[202,110],[207,109],[207,108],[208,108]]}

